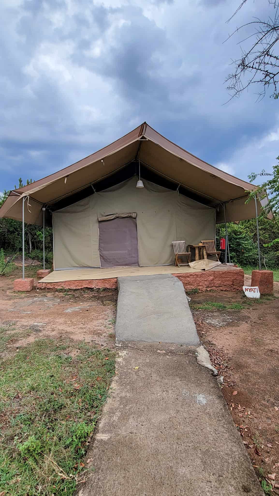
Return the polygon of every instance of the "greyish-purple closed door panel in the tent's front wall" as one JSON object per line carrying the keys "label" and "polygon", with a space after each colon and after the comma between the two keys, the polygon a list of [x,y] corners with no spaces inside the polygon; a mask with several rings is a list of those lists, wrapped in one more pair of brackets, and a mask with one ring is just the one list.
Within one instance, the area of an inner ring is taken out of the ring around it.
{"label": "greyish-purple closed door panel in the tent's front wall", "polygon": [[137,221],[132,217],[99,221],[101,267],[138,267]]}

